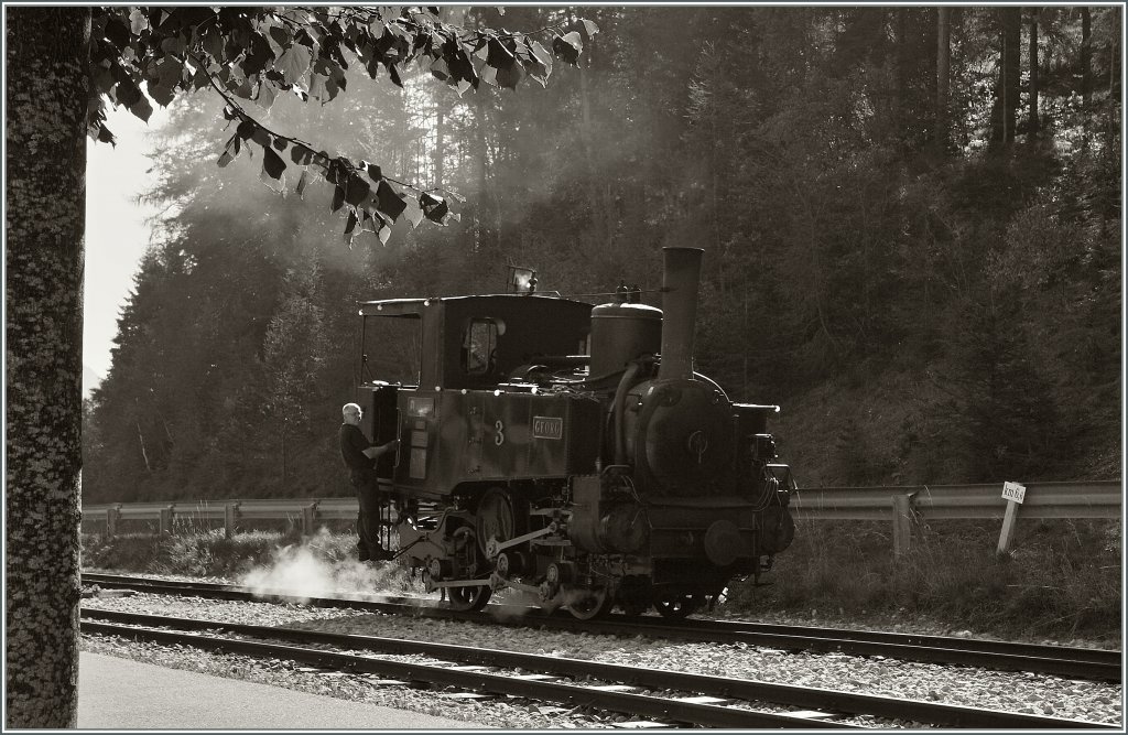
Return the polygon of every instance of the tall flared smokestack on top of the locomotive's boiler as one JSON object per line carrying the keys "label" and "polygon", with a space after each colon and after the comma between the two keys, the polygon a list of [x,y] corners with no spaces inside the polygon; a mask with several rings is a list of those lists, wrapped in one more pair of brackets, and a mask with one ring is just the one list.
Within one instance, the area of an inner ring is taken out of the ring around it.
{"label": "tall flared smokestack on top of the locomotive's boiler", "polygon": [[697,320],[697,286],[700,280],[699,247],[663,247],[662,362],[659,379],[694,377],[694,323]]}

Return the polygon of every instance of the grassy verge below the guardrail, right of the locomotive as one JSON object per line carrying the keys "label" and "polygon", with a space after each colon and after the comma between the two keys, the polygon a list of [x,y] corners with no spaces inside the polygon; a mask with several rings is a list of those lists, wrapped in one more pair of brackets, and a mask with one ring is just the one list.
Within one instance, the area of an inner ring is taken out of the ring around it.
{"label": "grassy verge below the guardrail, right of the locomotive", "polygon": [[881,624],[924,619],[1005,638],[1121,638],[1119,523],[1032,520],[1002,558],[990,524],[919,526],[901,559],[891,533],[876,522],[801,524],[773,584],[734,585],[726,606]]}

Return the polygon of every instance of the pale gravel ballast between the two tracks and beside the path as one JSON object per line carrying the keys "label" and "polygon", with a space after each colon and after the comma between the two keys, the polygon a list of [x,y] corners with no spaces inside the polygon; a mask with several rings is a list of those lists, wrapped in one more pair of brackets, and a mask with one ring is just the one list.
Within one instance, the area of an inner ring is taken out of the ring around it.
{"label": "pale gravel ballast between the two tracks and beside the path", "polygon": [[[473,645],[479,648],[547,654],[641,668],[754,679],[1102,724],[1119,725],[1122,721],[1122,688],[1119,684],[1074,681],[1022,672],[994,672],[881,657],[862,658],[843,654],[791,653],[743,644],[680,642],[641,636],[627,639],[409,619],[298,604],[227,602],[142,593],[123,597],[90,597],[83,600],[82,605],[88,609],[219,622],[284,625],[327,632]],[[476,721],[496,728],[609,727],[616,721],[628,719],[625,716],[592,717],[574,709],[508,698],[450,700],[441,697],[438,691],[373,685],[371,677],[365,675],[325,674],[285,662],[213,655],[187,647],[166,647],[85,636],[82,649]],[[398,658],[411,659],[411,657]],[[895,725],[915,726],[911,723]]]}

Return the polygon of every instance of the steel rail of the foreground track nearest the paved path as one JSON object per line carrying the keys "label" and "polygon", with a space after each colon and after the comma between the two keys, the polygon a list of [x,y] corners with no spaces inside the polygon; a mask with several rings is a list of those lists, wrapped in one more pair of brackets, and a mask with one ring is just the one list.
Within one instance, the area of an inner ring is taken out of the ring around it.
{"label": "steel rail of the foreground track nearest the paved path", "polygon": [[[857,727],[845,723],[805,717],[803,714],[786,715],[760,712],[739,709],[735,707],[721,707],[717,705],[697,703],[694,701],[671,700],[647,694],[607,691],[578,684],[563,684],[554,681],[504,676],[483,673],[479,671],[465,671],[461,667],[385,660],[368,656],[341,654],[316,648],[302,648],[281,644],[265,644],[261,641],[239,640],[232,638],[217,638],[212,636],[190,635],[167,630],[156,630],[152,628],[134,628],[130,625],[118,625],[115,623],[96,621],[82,621],[81,625],[82,631],[87,633],[100,633],[105,636],[132,638],[134,640],[193,646],[204,650],[214,650],[228,654],[245,654],[256,657],[268,656],[317,666],[326,666],[334,670],[390,676],[395,680],[425,682],[428,684],[455,686],[470,691],[508,694],[512,697],[562,702],[573,706],[580,705],[584,707],[598,707],[609,711],[651,717],[654,719],[673,720],[705,727],[788,727],[803,729]],[[219,623],[212,623],[212,625],[219,627]],[[1091,725],[1086,724],[1086,726]]]}

